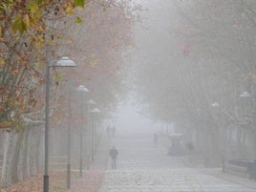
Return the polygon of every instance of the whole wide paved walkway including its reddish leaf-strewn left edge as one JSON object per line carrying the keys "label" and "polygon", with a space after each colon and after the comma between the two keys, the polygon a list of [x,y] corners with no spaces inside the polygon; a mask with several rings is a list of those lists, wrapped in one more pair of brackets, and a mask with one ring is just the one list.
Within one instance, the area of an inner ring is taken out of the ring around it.
{"label": "whole wide paved walkway including its reddish leaf-strewn left edge", "polygon": [[[183,158],[167,156],[166,142],[160,141],[155,146],[153,135],[123,135],[101,143],[90,170],[67,192],[256,192],[255,181],[221,169],[191,168]],[[117,170],[107,156],[112,145],[119,152]]]}

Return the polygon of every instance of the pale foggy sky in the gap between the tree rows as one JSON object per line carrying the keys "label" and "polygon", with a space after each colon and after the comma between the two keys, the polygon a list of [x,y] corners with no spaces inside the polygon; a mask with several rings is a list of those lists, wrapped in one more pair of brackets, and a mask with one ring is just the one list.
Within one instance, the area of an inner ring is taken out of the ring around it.
{"label": "pale foggy sky in the gap between the tree rows", "polygon": [[[137,31],[136,33],[137,49],[136,49],[136,53],[134,53],[134,61],[132,62],[134,63],[134,65],[132,66],[135,69],[137,69],[140,65],[139,64],[140,60],[138,61],[138,59],[139,58],[144,59],[144,56],[143,55],[141,56],[141,53],[143,54],[144,52],[146,52],[147,54],[148,48],[152,47],[148,45],[148,38],[152,36],[148,36],[148,35],[150,35],[152,31],[154,32],[156,31],[156,26],[157,26],[157,29],[163,28],[162,24],[159,22],[160,21],[159,11],[162,10],[160,2],[156,3],[153,0],[149,0],[149,1],[139,1],[139,3],[142,5],[143,9],[146,11],[140,12],[140,14],[141,13],[144,14],[142,17],[145,23],[142,26],[139,23],[139,26],[140,26],[138,28],[139,31]],[[158,12],[157,14],[158,17],[154,15],[152,16],[152,14],[156,14],[155,11]],[[169,11],[166,11],[166,12],[169,12]],[[166,15],[162,15],[162,17],[165,17],[165,16]],[[152,27],[152,25],[154,27]],[[143,27],[146,27],[146,30]],[[138,103],[133,96],[127,96],[127,98],[119,104],[115,114],[115,118],[109,121],[111,126],[115,125],[117,130],[119,130],[119,132],[121,133],[150,133],[151,134],[151,133],[160,131],[160,123],[154,122],[153,119],[147,118],[139,114],[139,104],[141,103]]]}

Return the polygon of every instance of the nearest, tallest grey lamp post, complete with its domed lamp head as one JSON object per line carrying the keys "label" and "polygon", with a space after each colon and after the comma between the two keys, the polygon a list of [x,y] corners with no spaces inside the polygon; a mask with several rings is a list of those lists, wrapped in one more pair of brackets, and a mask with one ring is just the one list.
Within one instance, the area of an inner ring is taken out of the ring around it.
{"label": "nearest, tallest grey lamp post, complete with its domed lamp head", "polygon": [[[48,55],[47,55],[48,57]],[[45,95],[45,173],[44,192],[49,192],[49,93],[50,93],[50,68],[51,67],[76,67],[76,64],[69,57],[62,57],[56,62],[51,62],[46,66],[46,95]]]}

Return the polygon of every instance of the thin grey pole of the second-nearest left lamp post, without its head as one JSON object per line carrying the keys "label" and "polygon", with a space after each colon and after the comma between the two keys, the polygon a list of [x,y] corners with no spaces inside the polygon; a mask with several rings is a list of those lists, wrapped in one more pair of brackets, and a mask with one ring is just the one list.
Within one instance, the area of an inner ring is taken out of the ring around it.
{"label": "thin grey pole of the second-nearest left lamp post, without its head", "polygon": [[71,187],[71,91],[69,93],[67,189]]}

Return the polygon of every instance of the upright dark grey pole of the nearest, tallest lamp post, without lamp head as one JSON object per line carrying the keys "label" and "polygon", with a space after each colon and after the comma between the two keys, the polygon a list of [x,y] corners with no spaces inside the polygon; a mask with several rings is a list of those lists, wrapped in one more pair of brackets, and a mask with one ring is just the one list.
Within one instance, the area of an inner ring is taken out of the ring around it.
{"label": "upright dark grey pole of the nearest, tallest lamp post, without lamp head", "polygon": [[[48,53],[48,52],[47,52]],[[48,56],[47,56],[48,58]],[[48,62],[48,61],[47,61]],[[44,192],[49,192],[49,74],[50,66],[46,66],[46,94],[45,94],[45,175],[44,175]]]}

